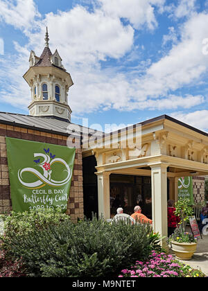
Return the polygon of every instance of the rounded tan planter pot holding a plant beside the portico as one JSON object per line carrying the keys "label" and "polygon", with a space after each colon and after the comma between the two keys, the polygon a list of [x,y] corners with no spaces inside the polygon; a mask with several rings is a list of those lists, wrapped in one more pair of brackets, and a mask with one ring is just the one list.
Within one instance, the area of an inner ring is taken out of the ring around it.
{"label": "rounded tan planter pot holding a plant beside the portico", "polygon": [[193,254],[196,252],[197,243],[177,243],[171,242],[171,248],[175,253],[176,258],[180,260],[191,260]]}

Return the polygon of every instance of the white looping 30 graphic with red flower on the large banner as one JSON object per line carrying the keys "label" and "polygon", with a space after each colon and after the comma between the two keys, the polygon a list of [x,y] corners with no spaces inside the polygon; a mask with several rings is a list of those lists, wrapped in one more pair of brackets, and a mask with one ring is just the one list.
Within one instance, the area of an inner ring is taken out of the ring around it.
{"label": "white looping 30 graphic with red flower on the large banner", "polygon": [[[35,162],[35,167],[38,166],[39,168],[42,168],[41,171],[37,170],[36,168],[24,168],[22,170],[19,169],[18,171],[19,182],[21,182],[21,184],[25,186],[26,188],[33,188],[33,189],[42,188],[46,185],[58,187],[58,186],[67,184],[70,181],[72,170],[69,167],[69,165],[66,163],[66,161],[64,161],[64,159],[55,158],[55,155],[53,155],[50,152],[49,148],[48,149],[44,148],[44,152],[45,154],[35,153],[34,157],[36,159],[33,160]],[[44,161],[41,161],[41,158],[43,158]],[[55,164],[62,164],[62,166],[64,166],[65,168],[63,171],[67,173],[67,177],[63,179],[62,181],[55,181],[51,178],[52,168],[53,168],[53,171],[55,171],[55,168],[53,167],[53,165]],[[26,172],[32,173],[39,179],[33,183],[24,182],[22,174]]]}

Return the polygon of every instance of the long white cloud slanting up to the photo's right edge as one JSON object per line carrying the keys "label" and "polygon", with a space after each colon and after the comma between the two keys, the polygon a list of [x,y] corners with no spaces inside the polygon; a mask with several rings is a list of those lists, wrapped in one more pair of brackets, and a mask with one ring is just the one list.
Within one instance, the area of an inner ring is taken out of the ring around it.
{"label": "long white cloud slanting up to the photo's right edge", "polygon": [[207,37],[208,15],[200,13],[180,29],[181,40],[158,62],[137,79],[139,96],[165,96],[194,82],[208,71],[208,58],[202,53],[202,39]]}

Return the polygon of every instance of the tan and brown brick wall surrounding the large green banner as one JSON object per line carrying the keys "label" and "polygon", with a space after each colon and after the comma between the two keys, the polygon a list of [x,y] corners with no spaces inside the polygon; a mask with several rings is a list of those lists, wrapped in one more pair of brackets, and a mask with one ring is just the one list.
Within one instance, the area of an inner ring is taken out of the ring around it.
{"label": "tan and brown brick wall surrounding the large green banner", "polygon": [[[12,210],[6,152],[6,136],[16,139],[26,139],[28,141],[52,143],[55,145],[67,145],[67,136],[0,124],[0,214],[5,212],[8,213]],[[76,157],[73,167],[73,177],[67,205],[67,214],[71,216],[71,220],[73,222],[76,222],[77,218],[84,218],[83,161],[82,150],[80,148],[76,148]]]}

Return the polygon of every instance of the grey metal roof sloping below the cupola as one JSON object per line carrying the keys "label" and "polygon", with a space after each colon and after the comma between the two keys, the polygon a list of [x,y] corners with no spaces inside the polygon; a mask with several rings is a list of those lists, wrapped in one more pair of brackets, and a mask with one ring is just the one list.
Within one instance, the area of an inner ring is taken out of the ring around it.
{"label": "grey metal roof sloping below the cupola", "polygon": [[55,117],[0,112],[0,123],[66,136],[69,136],[69,134],[74,134],[75,136],[92,135],[95,132],[96,135],[103,134],[103,132],[98,132],[75,123],[69,123],[69,121]]}

